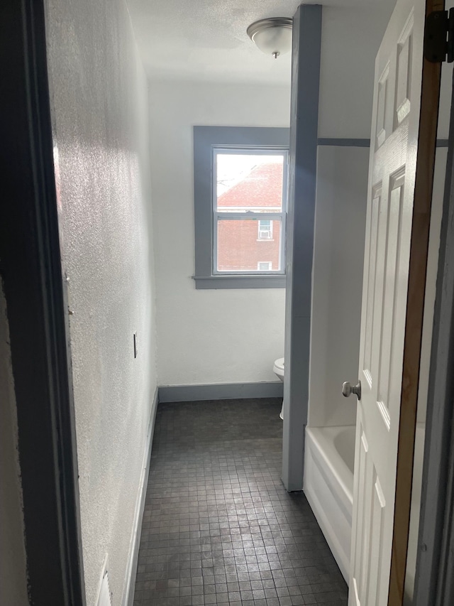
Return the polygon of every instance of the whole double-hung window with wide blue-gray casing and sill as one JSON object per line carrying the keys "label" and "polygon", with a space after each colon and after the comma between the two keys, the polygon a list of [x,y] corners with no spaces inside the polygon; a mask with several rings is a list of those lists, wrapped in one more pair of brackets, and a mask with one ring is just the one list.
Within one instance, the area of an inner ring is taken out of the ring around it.
{"label": "whole double-hung window with wide blue-gray casing and sill", "polygon": [[196,288],[285,286],[288,139],[194,126]]}

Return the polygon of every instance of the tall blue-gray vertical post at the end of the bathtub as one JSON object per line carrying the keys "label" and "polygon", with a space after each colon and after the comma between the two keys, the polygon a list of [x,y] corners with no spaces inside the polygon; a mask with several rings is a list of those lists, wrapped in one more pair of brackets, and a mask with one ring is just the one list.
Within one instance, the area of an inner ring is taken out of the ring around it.
{"label": "tall blue-gray vertical post at the end of the bathtub", "polygon": [[309,399],[312,256],[319,124],[321,13],[301,4],[293,19],[282,482],[301,490]]}

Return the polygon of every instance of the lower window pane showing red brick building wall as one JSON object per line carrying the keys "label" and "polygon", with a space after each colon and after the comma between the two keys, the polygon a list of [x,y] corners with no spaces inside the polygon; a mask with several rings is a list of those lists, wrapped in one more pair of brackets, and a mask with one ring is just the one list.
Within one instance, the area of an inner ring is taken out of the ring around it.
{"label": "lower window pane showing red brick building wall", "polygon": [[[272,238],[258,238],[258,221],[251,219],[218,220],[217,271],[260,271],[263,261],[268,271],[281,271],[281,222],[270,221]],[[263,270],[261,270],[263,271]]]}

